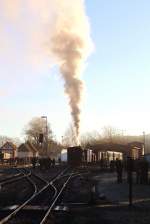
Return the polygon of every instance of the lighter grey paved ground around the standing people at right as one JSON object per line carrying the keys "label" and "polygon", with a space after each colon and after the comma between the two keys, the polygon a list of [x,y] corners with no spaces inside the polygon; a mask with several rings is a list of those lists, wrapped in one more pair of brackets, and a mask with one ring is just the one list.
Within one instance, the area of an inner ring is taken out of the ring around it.
{"label": "lighter grey paved ground around the standing people at right", "polygon": [[[128,205],[129,185],[125,176],[122,184],[117,183],[115,173],[103,173],[93,179],[98,196],[104,195],[111,204]],[[150,205],[150,185],[133,184],[133,204]]]}

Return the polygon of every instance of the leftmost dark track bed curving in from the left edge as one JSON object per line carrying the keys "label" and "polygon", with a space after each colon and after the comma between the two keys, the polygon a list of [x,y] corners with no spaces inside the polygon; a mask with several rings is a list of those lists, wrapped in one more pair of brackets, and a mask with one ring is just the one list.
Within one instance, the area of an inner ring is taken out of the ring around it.
{"label": "leftmost dark track bed curving in from the left edge", "polygon": [[[5,179],[1,182],[0,190],[0,217],[3,217],[4,211],[15,209],[24,203],[29,196],[40,190],[47,182],[31,171],[18,169],[17,177]],[[2,212],[3,211],[3,212]],[[1,218],[2,218],[1,217]]]}

